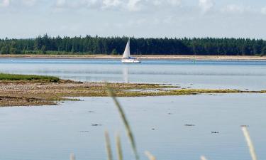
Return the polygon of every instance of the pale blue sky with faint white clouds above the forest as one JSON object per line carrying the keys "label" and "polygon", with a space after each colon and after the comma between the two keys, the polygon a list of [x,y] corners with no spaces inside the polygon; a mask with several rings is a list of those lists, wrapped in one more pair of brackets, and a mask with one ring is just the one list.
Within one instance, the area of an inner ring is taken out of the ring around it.
{"label": "pale blue sky with faint white clouds above the forest", "polygon": [[0,0],[0,38],[262,38],[266,0]]}

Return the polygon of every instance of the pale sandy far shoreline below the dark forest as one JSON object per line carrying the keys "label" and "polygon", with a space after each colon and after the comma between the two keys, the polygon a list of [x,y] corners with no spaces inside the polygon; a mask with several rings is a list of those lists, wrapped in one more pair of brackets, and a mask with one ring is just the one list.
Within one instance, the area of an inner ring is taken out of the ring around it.
{"label": "pale sandy far shoreline below the dark forest", "polygon": [[[255,55],[133,55],[140,60],[266,60]],[[0,58],[120,59],[121,55],[0,55]]]}

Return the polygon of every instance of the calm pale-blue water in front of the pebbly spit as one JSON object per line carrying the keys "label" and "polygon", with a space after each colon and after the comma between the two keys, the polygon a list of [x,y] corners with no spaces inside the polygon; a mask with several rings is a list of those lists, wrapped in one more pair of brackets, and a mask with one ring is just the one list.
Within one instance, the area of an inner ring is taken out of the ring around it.
{"label": "calm pale-blue water in front of the pebbly spit", "polygon": [[[6,160],[106,159],[104,130],[122,137],[133,159],[123,124],[109,97],[85,97],[51,107],[4,107],[0,110],[0,152]],[[259,159],[266,159],[265,95],[186,95],[119,98],[131,122],[138,151],[157,159],[248,160],[239,127],[249,125]],[[92,126],[101,124],[101,126]],[[195,124],[186,127],[184,124]],[[155,130],[153,130],[153,128]],[[217,131],[219,134],[211,134]],[[112,141],[114,146],[114,142]]]}

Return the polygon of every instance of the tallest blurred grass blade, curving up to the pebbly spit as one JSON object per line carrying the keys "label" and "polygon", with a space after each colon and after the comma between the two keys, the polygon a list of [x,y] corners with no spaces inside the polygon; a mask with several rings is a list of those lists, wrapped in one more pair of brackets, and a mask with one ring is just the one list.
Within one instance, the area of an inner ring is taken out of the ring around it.
{"label": "tallest blurred grass blade, curving up to the pebbly spit", "polygon": [[109,84],[106,83],[106,87],[107,87],[107,92],[108,92],[108,95],[113,99],[113,102],[115,103],[120,115],[121,115],[121,118],[123,120],[123,124],[125,125],[126,127],[126,132],[128,134],[128,138],[131,142],[131,146],[132,146],[132,149],[133,149],[133,153],[135,154],[135,159],[138,160],[138,151],[137,151],[137,147],[135,145],[135,139],[133,137],[133,133],[131,131],[131,127],[129,126],[129,123],[128,123],[128,120],[126,119],[126,114],[125,112],[123,112],[123,108],[121,107],[121,105],[119,104],[118,100],[116,99],[116,96],[115,94],[113,93],[113,91],[111,90],[111,88],[109,87]]}

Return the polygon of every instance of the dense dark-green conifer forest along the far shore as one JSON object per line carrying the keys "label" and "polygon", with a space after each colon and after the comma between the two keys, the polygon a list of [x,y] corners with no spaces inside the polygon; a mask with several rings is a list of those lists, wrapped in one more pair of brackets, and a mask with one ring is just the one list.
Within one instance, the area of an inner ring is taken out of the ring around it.
{"label": "dense dark-green conifer forest along the far shore", "polygon": [[[122,54],[127,37],[0,39],[1,54]],[[131,38],[135,55],[266,55],[266,41],[245,38]]]}

